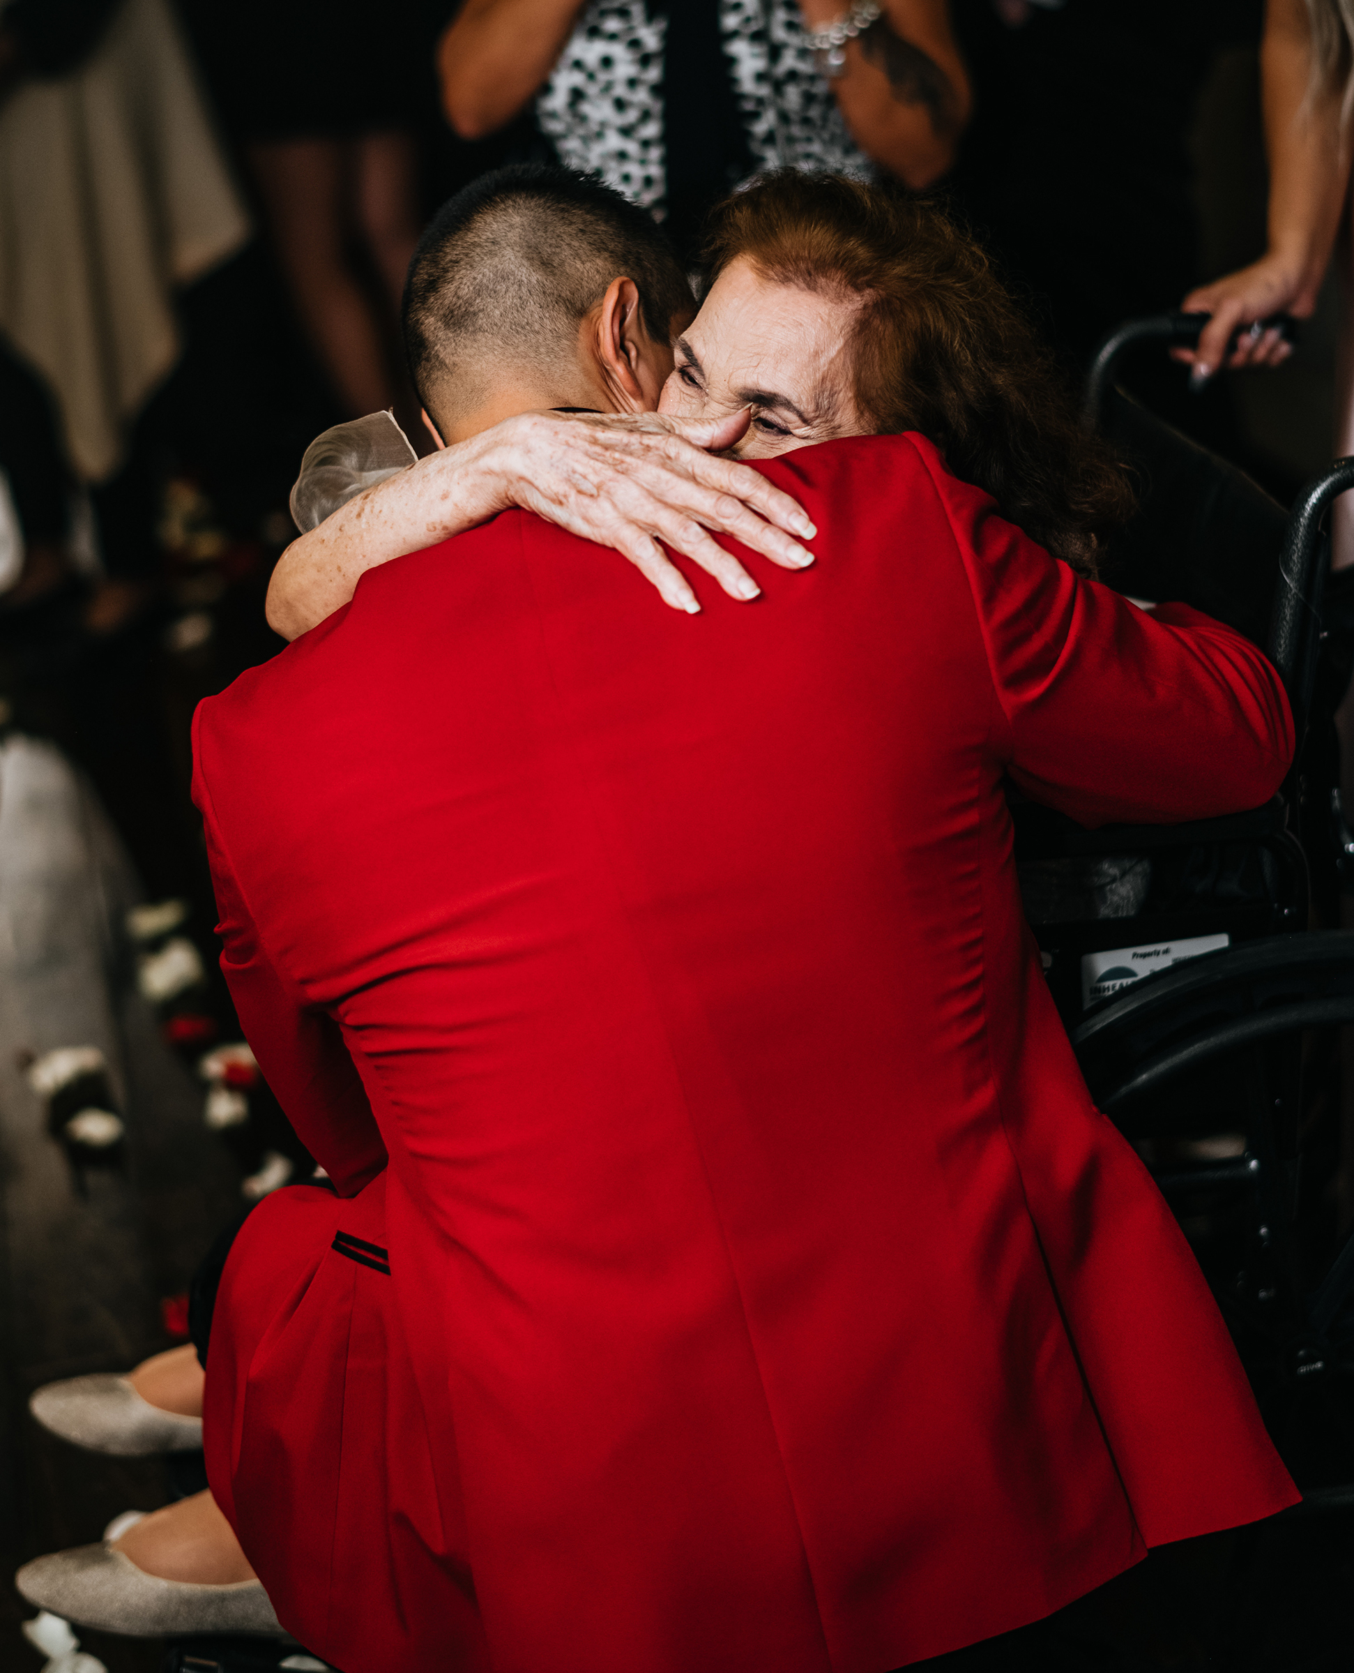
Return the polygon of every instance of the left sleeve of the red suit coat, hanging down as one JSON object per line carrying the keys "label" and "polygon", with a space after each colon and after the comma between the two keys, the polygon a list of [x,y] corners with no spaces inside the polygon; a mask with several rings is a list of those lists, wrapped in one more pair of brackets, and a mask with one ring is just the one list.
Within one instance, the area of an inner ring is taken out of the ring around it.
{"label": "left sleeve of the red suit coat, hanging down", "polygon": [[201,716],[199,708],[192,726],[192,796],[202,813],[221,913],[217,934],[226,985],[244,1037],[301,1143],[329,1174],[339,1196],[356,1196],[386,1166],[384,1143],[338,1022],[304,1002],[264,947],[212,806],[202,765]]}

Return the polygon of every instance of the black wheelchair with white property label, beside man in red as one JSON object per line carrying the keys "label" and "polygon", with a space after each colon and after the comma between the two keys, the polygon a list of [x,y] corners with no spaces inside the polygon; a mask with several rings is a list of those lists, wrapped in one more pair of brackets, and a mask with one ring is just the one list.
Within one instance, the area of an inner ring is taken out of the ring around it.
{"label": "black wheelchair with white property label, beside man in red", "polygon": [[1087,420],[1145,478],[1143,515],[1105,579],[1262,646],[1292,704],[1295,765],[1265,806],[1177,826],[1083,830],[1016,798],[1015,853],[1087,1084],[1190,1236],[1302,1489],[1295,1511],[1351,1509],[1354,1236],[1331,1258],[1301,1205],[1316,1046],[1354,1024],[1354,932],[1307,927],[1312,870],[1336,855],[1322,821],[1304,820],[1309,734],[1347,678],[1322,611],[1332,596],[1347,611],[1349,584],[1329,582],[1326,512],[1354,487],[1354,458],[1284,512],[1113,386],[1128,346],[1192,343],[1205,318],[1130,321],[1092,366]]}

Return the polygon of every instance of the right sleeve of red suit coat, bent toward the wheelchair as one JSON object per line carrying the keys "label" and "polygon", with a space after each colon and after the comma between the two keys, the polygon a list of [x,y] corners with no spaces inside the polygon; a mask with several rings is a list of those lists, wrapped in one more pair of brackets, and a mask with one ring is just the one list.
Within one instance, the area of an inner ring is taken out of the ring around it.
{"label": "right sleeve of red suit coat, bent toward the wheelchair", "polygon": [[1279,674],[1185,604],[1147,612],[1077,576],[938,470],[1011,778],[1082,825],[1178,823],[1267,801],[1292,763]]}

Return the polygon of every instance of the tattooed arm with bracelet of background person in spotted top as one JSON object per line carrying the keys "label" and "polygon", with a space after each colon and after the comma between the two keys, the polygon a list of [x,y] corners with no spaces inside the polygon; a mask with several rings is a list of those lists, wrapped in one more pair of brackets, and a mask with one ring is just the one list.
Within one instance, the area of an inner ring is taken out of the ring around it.
{"label": "tattooed arm with bracelet of background person in spotted top", "polygon": [[[826,28],[849,0],[801,0],[804,27]],[[884,0],[883,17],[844,49],[832,80],[856,144],[913,189],[954,164],[973,95],[948,0]]]}

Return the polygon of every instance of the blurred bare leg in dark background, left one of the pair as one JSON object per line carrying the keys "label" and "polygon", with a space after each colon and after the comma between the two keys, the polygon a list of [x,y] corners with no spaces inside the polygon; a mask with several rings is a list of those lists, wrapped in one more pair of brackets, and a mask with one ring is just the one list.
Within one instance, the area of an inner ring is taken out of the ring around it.
{"label": "blurred bare leg in dark background, left one of the pair", "polygon": [[353,147],[288,139],[249,147],[272,241],[306,326],[348,412],[389,407],[386,333],[348,268]]}

